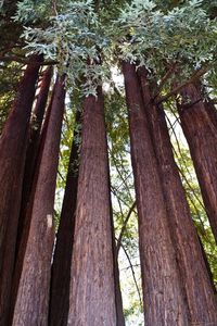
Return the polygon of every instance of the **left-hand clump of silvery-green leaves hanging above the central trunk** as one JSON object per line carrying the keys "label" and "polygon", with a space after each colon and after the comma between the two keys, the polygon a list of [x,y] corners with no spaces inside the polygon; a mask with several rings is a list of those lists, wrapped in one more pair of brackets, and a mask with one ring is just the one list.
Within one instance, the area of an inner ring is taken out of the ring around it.
{"label": "left-hand clump of silvery-green leaves hanging above the central trunk", "polygon": [[[27,21],[33,5],[28,1],[22,5],[16,20],[24,16]],[[97,86],[110,75],[106,62],[101,61],[108,40],[91,0],[63,3],[60,13],[48,18],[46,28],[25,27],[23,37],[28,52],[43,53],[46,59],[58,61],[60,72],[67,74],[71,86],[82,78],[86,96],[95,95]]]}

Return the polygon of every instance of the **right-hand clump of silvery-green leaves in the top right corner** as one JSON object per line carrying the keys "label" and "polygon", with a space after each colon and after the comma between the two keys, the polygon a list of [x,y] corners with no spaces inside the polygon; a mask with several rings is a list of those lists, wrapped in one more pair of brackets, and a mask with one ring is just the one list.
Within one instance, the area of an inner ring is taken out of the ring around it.
{"label": "right-hand clump of silvery-green leaves in the top right corner", "polygon": [[188,1],[164,13],[154,1],[132,1],[116,23],[120,57],[157,76],[175,62],[183,65],[188,76],[215,60],[217,22],[200,5],[200,0]]}

